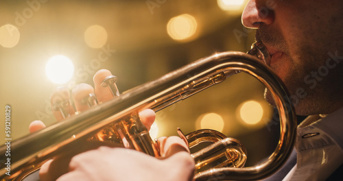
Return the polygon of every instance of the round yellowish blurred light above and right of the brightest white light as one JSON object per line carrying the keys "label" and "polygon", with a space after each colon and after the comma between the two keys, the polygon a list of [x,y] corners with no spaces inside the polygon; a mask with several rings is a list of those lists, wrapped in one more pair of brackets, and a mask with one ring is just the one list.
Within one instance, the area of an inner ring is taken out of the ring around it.
{"label": "round yellowish blurred light above and right of the brightest white light", "polygon": [[84,41],[94,49],[103,47],[107,41],[106,29],[100,25],[91,25],[84,32]]}

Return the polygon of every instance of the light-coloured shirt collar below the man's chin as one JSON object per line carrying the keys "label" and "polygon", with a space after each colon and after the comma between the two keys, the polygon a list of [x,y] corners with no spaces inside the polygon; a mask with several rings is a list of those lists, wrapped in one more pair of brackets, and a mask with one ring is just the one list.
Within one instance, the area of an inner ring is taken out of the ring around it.
{"label": "light-coloured shirt collar below the man's chin", "polygon": [[298,125],[296,165],[283,181],[325,180],[343,163],[343,108]]}

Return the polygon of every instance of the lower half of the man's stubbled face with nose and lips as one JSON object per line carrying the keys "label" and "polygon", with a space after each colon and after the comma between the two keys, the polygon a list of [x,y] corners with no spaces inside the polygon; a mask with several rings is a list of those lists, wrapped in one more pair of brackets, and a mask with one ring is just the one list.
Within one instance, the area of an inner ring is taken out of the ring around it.
{"label": "lower half of the man's stubbled face with nose and lips", "polygon": [[242,22],[258,28],[297,114],[343,106],[343,1],[250,0]]}

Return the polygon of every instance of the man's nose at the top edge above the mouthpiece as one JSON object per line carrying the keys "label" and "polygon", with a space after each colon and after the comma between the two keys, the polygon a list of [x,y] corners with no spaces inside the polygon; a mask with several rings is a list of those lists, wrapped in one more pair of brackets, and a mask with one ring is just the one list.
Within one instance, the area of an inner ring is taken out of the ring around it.
{"label": "man's nose at the top edge above the mouthpiece", "polygon": [[258,28],[261,24],[270,25],[274,22],[274,10],[263,5],[262,1],[257,1],[248,1],[243,11],[241,22],[245,27]]}

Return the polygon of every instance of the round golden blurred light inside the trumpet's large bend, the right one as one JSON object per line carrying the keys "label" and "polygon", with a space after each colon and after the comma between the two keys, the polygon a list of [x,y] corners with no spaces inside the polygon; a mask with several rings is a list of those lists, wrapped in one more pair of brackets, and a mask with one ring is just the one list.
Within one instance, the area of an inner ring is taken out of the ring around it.
{"label": "round golden blurred light inside the trumpet's large bend, the right one", "polygon": [[263,117],[261,104],[254,100],[248,100],[239,106],[239,117],[244,123],[254,125],[259,123]]}

